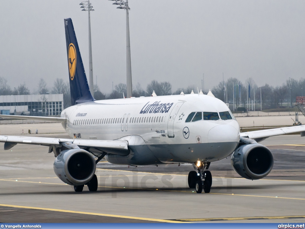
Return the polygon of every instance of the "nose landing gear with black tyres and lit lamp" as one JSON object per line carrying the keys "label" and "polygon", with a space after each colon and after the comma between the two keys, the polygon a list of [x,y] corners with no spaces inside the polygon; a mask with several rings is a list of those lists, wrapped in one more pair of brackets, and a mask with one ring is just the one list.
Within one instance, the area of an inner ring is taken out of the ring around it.
{"label": "nose landing gear with black tyres and lit lamp", "polygon": [[203,170],[210,167],[210,162],[202,163],[198,161],[196,164],[193,163],[193,166],[198,172],[190,171],[188,173],[188,187],[196,188],[197,193],[201,193],[202,189],[205,193],[209,193],[212,186],[212,174],[209,170]]}

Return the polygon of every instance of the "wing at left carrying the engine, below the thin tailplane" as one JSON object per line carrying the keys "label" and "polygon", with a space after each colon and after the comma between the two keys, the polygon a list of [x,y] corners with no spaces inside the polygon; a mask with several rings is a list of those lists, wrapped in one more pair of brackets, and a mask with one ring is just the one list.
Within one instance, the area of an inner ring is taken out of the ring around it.
{"label": "wing at left carrying the engine, below the thin tailplane", "polygon": [[8,150],[17,144],[31,144],[49,146],[49,152],[55,148],[64,149],[74,148],[92,148],[96,151],[102,151],[112,154],[126,154],[128,152],[128,141],[120,140],[85,140],[85,139],[67,139],[67,138],[42,138],[29,136],[1,136],[0,142],[4,142],[4,149]]}

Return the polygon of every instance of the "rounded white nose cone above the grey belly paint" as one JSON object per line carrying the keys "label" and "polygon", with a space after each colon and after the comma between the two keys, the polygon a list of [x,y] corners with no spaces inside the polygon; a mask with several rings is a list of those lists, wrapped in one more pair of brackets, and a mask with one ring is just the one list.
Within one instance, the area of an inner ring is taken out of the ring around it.
{"label": "rounded white nose cone above the grey belly paint", "polygon": [[210,129],[208,142],[239,141],[239,131],[231,125],[218,125]]}

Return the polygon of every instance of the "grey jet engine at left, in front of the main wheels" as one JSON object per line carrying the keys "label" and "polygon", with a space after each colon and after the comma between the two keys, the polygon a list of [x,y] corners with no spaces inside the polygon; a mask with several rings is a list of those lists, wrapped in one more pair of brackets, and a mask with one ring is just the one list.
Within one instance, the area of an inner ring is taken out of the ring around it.
{"label": "grey jet engine at left, in front of the main wheels", "polygon": [[70,185],[88,183],[95,173],[95,159],[84,149],[68,149],[61,152],[53,164],[60,180]]}

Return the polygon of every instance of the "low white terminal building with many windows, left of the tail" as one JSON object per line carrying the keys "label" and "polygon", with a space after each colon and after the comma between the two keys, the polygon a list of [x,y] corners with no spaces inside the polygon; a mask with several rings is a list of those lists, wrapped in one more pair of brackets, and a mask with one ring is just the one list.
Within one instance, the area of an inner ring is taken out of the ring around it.
{"label": "low white terminal building with many windows, left of the tail", "polygon": [[1,95],[1,114],[56,116],[63,110],[63,94]]}

